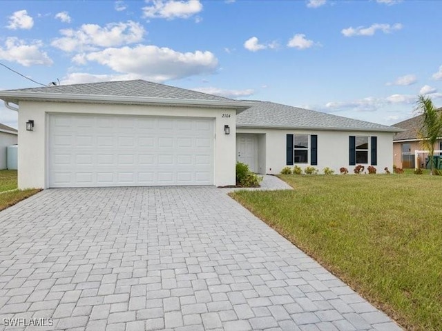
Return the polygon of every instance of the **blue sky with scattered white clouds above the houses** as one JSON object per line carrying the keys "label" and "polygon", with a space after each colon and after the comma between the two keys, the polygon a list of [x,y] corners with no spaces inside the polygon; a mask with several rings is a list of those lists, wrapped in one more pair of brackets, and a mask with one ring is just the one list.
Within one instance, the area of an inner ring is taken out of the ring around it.
{"label": "blue sky with scattered white clouds above the houses", "polygon": [[[1,1],[0,64],[145,79],[392,125],[442,106],[442,1]],[[39,87],[0,66],[0,89]],[[17,112],[0,105],[0,123]]]}

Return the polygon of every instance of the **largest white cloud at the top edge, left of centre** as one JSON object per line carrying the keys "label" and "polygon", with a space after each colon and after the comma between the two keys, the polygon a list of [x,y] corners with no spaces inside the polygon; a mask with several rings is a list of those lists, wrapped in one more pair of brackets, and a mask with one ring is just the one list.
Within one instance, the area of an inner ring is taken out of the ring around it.
{"label": "largest white cloud at the top edge, left of centre", "polygon": [[200,0],[153,0],[146,2],[152,4],[143,8],[144,17],[149,19],[188,19],[202,10]]}

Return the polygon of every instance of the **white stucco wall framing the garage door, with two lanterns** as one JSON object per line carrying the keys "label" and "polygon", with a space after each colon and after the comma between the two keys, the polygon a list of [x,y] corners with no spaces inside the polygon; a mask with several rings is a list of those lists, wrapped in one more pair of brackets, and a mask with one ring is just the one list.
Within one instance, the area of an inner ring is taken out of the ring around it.
{"label": "white stucco wall framing the garage door, with two lanterns", "polygon": [[[19,104],[19,188],[48,188],[48,139],[50,139],[48,115],[55,113],[213,119],[215,123],[213,184],[235,184],[235,110],[21,101]],[[32,132],[26,131],[26,121],[29,119],[35,121]],[[230,126],[231,134],[224,134],[224,125]]]}

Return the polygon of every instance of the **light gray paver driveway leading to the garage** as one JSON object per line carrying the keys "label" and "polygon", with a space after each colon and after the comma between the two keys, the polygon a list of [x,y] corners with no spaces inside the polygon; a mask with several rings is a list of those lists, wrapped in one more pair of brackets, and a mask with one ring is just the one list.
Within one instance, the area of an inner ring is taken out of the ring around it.
{"label": "light gray paver driveway leading to the garage", "polygon": [[10,318],[49,330],[400,330],[214,187],[45,190],[0,212],[0,329]]}

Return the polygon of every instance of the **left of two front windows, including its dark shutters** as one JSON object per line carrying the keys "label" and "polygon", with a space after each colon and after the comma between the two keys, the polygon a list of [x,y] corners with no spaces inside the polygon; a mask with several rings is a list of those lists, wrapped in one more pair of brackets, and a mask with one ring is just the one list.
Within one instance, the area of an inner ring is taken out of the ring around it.
{"label": "left of two front windows, including its dark shutters", "polygon": [[318,165],[318,135],[287,134],[287,165],[309,163]]}

